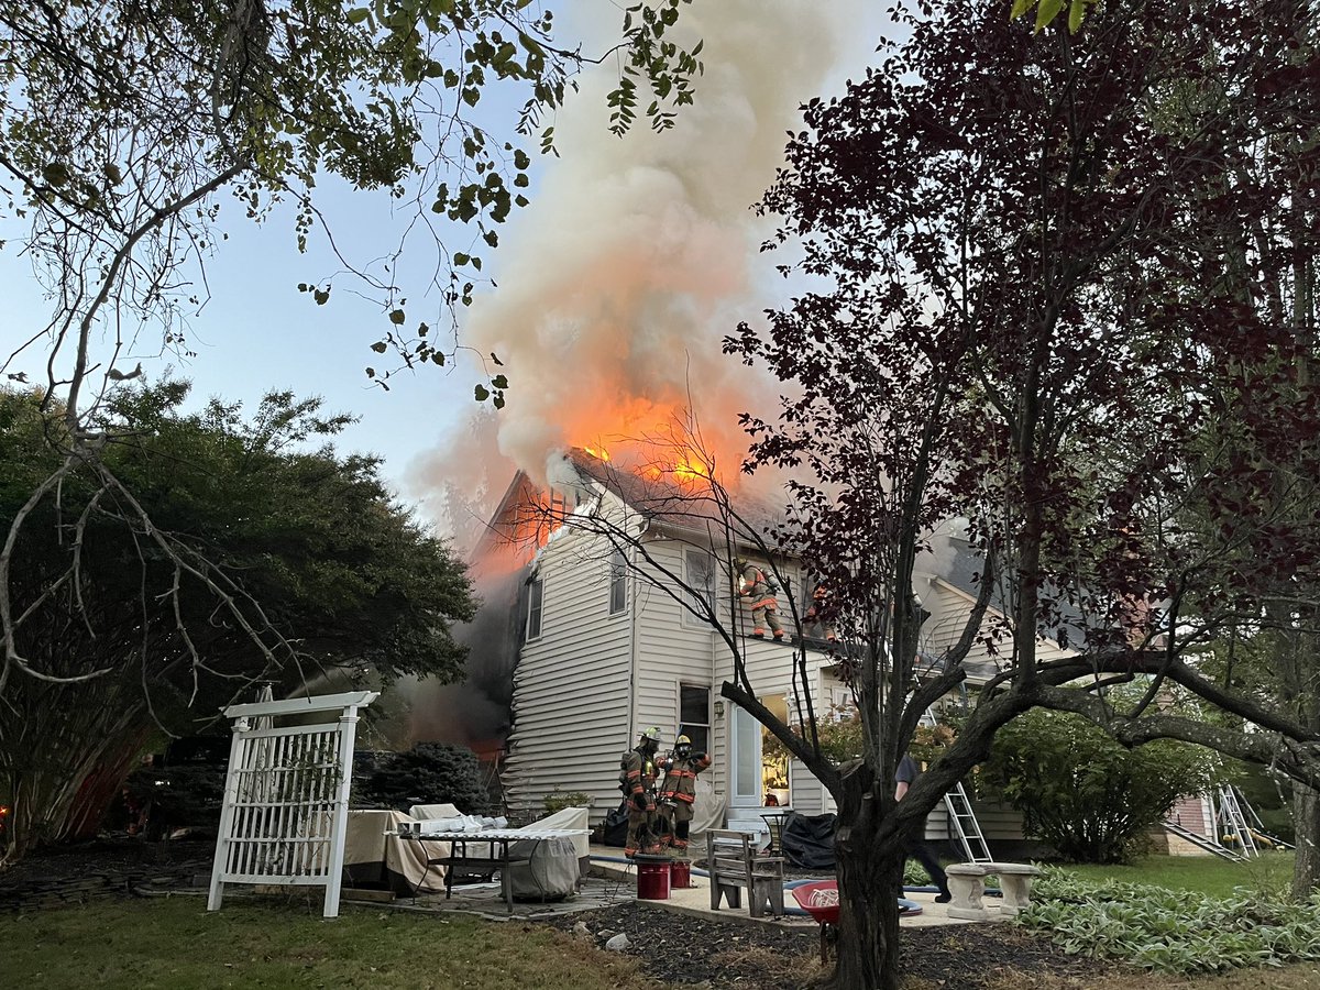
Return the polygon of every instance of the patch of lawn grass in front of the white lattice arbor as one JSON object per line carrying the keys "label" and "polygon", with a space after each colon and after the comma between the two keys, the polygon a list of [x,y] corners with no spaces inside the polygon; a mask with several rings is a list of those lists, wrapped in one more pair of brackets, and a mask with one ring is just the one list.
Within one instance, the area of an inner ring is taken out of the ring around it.
{"label": "patch of lawn grass in front of the white lattice arbor", "polygon": [[635,961],[517,921],[197,896],[0,915],[5,973],[29,987],[651,990]]}

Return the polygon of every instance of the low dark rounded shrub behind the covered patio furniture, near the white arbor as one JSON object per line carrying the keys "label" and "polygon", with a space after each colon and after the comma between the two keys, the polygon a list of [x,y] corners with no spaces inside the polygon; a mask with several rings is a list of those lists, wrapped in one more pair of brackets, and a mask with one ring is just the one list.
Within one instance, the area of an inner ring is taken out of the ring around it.
{"label": "low dark rounded shrub behind the covered patio furniture, near the white arbor", "polygon": [[362,781],[359,799],[371,808],[408,810],[414,804],[451,804],[463,814],[484,814],[490,795],[480,763],[466,746],[417,743],[383,758]]}

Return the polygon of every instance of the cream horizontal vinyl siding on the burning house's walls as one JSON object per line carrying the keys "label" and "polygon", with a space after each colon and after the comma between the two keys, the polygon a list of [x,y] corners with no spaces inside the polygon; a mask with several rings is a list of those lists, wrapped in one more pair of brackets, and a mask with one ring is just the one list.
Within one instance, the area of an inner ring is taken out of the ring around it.
{"label": "cream horizontal vinyl siding on the burning house's walls", "polygon": [[[599,822],[620,800],[619,756],[636,734],[657,725],[664,734],[661,751],[673,744],[681,685],[710,692],[713,763],[704,777],[715,799],[727,801],[730,704],[719,698],[719,686],[733,678],[733,657],[719,635],[686,616],[672,595],[652,583],[661,579],[661,568],[684,574],[684,554],[697,544],[672,533],[651,533],[644,540],[655,560],[653,566],[645,565],[652,568],[651,578],[630,576],[628,607],[618,615],[610,615],[612,548],[603,537],[568,527],[539,556],[541,636],[524,644],[513,673],[513,729],[503,774],[512,812],[535,816],[548,793],[583,791],[593,799],[591,821]],[[722,619],[727,628],[744,631],[746,612],[725,585],[717,572]],[[956,594],[941,605],[949,620],[968,607]],[[746,636],[742,651],[758,696],[789,696],[791,645]],[[830,689],[840,686],[826,667],[825,655],[809,653],[805,688],[817,711],[828,708]],[[834,810],[825,788],[797,760],[789,763],[789,788],[796,810]],[[991,828],[982,822],[993,841]],[[946,834],[942,807],[931,816],[928,834]]]}

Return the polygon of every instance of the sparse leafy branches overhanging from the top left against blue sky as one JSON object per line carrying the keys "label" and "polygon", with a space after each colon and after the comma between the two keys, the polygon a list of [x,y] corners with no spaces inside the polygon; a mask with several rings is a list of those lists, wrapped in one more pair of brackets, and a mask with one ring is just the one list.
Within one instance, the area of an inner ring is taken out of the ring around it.
{"label": "sparse leafy branches overhanging from the top left against blue sky", "polygon": [[[53,306],[0,370],[36,348],[77,416],[107,376],[131,374],[116,364],[143,334],[186,352],[186,313],[205,300],[185,286],[205,285],[226,201],[251,220],[289,206],[300,248],[330,236],[352,290],[381,308],[375,350],[444,363],[457,341],[442,326],[470,301],[499,224],[527,203],[525,145],[554,149],[553,114],[577,71],[618,62],[619,135],[639,117],[664,129],[692,102],[701,44],[673,32],[688,3],[624,8],[616,45],[591,54],[557,40],[553,11],[532,0],[7,0],[8,251],[25,249]],[[516,120],[478,112],[496,90],[521,96]],[[414,216],[411,236],[383,256],[371,246],[379,261],[364,268],[318,206],[331,183],[387,194]],[[426,240],[434,280],[413,286],[407,308],[397,261]],[[333,289],[300,288],[317,304]],[[421,313],[428,294],[436,305]],[[383,380],[388,368],[368,374]]]}

